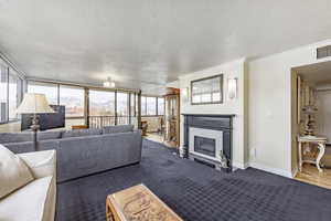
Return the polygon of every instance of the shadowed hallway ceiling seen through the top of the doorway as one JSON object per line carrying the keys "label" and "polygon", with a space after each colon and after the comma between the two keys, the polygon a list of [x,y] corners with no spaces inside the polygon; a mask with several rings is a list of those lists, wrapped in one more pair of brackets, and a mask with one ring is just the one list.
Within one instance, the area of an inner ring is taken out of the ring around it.
{"label": "shadowed hallway ceiling seen through the top of the doorway", "polygon": [[296,67],[295,71],[308,83],[314,86],[331,84],[331,62]]}

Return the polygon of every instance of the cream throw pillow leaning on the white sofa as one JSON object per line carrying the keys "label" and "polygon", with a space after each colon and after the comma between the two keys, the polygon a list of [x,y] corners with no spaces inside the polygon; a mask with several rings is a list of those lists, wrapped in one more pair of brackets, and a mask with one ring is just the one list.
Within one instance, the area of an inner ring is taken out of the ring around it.
{"label": "cream throw pillow leaning on the white sofa", "polygon": [[0,198],[32,180],[32,173],[24,161],[0,145]]}

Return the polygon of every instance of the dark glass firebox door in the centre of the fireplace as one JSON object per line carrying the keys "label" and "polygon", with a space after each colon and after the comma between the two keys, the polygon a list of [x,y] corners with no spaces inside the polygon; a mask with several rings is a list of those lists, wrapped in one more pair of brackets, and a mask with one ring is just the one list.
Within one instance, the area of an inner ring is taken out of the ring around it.
{"label": "dark glass firebox door in the centre of the fireplace", "polygon": [[215,139],[194,136],[194,151],[210,157],[216,157]]}

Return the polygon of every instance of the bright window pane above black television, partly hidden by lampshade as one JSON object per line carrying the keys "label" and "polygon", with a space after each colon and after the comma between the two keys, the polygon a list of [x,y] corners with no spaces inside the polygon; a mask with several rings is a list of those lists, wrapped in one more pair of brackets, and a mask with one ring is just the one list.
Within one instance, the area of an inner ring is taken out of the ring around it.
{"label": "bright window pane above black television, partly hidden by lampshade", "polygon": [[28,82],[29,93],[44,94],[49,104],[57,105],[57,84]]}

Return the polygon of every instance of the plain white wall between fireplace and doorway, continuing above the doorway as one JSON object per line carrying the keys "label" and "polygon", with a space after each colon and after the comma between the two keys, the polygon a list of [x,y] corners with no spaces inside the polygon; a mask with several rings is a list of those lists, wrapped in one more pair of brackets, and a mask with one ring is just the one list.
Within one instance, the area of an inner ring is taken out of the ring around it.
{"label": "plain white wall between fireplace and doorway, continuing above the doorway", "polygon": [[[317,61],[316,48],[331,40],[257,59],[248,63],[250,165],[291,177],[291,67]],[[256,152],[256,155],[254,155]]]}

